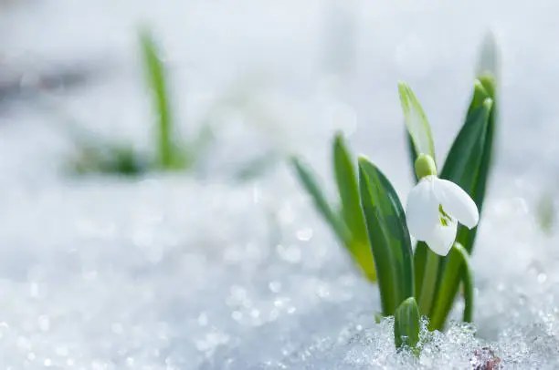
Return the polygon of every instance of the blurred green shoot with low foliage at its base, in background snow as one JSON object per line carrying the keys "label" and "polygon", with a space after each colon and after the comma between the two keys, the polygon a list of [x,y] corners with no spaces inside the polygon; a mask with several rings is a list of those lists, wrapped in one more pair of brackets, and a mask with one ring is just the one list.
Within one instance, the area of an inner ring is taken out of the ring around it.
{"label": "blurred green shoot with low foliage at its base, in background snow", "polygon": [[213,131],[206,125],[195,139],[176,142],[174,114],[161,51],[148,30],[142,29],[139,39],[146,85],[155,112],[154,155],[140,152],[131,144],[87,137],[79,142],[79,157],[73,166],[79,173],[135,176],[150,170],[190,170],[213,140]]}

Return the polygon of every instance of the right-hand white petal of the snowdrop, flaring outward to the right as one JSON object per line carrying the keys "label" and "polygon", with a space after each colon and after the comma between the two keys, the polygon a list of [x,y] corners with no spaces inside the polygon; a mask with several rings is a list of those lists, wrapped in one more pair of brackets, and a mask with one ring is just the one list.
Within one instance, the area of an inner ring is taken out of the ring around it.
{"label": "right-hand white petal of the snowdrop, flaring outward to the right", "polygon": [[448,180],[436,179],[433,181],[433,190],[435,190],[435,196],[443,210],[450,216],[468,229],[478,224],[480,212],[476,203],[457,184]]}

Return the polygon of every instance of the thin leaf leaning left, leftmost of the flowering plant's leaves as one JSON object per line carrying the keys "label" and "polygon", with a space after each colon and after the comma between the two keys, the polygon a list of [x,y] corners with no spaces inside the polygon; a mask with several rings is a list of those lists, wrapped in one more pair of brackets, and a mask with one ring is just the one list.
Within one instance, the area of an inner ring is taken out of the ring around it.
{"label": "thin leaf leaning left, leftmost of the flowering plant's leaves", "polygon": [[301,181],[301,185],[311,196],[316,209],[322,214],[324,220],[332,227],[332,231],[334,231],[340,242],[342,242],[344,246],[348,245],[351,241],[350,232],[347,230],[343,221],[336,212],[332,210],[330,204],[328,204],[328,200],[326,200],[326,196],[322,192],[321,186],[319,185],[318,180],[316,180],[316,176],[312,173],[311,168],[297,157],[292,157],[290,162],[295,169],[297,177]]}

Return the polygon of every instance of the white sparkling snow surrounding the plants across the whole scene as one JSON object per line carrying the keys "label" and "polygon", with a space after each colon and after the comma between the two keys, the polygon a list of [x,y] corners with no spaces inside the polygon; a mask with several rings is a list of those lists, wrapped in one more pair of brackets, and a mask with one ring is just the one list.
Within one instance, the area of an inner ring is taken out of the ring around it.
{"label": "white sparkling snow surrounding the plants across the whole scene", "polygon": [[[48,68],[100,71],[83,87],[0,98],[0,367],[467,369],[489,368],[475,367],[489,345],[506,368],[556,368],[558,238],[540,231],[534,210],[543,192],[557,195],[559,5],[264,3],[0,7],[0,77],[26,71],[25,87]],[[61,111],[149,144],[139,22],[163,42],[185,135],[239,88],[250,113],[222,115],[203,176],[71,178]],[[396,82],[416,91],[443,160],[488,28],[501,46],[501,128],[473,259],[476,328],[451,324],[419,359],[396,355],[391,323],[374,323],[377,290],[290,169],[245,183],[228,174],[267,149],[298,152],[332,189],[329,145],[341,128],[404,200],[411,178]]]}

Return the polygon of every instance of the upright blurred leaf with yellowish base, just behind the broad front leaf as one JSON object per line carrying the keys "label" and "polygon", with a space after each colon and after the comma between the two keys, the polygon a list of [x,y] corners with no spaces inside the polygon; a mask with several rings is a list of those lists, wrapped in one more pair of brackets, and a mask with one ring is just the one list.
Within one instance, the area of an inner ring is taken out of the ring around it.
{"label": "upright blurred leaf with yellowish base, just behind the broad front leaf", "polygon": [[351,242],[348,248],[365,276],[374,282],[376,281],[376,273],[374,271],[373,253],[369,246],[363,211],[361,211],[357,174],[352,156],[341,133],[338,133],[333,141],[332,160],[342,205],[341,218],[351,233]]}

